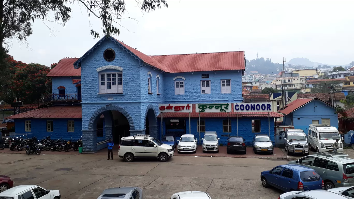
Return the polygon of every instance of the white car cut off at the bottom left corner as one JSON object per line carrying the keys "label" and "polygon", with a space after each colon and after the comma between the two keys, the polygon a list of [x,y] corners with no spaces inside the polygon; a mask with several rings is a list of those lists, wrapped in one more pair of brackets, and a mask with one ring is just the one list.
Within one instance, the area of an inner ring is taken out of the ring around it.
{"label": "white car cut off at the bottom left corner", "polygon": [[36,185],[19,185],[0,193],[6,199],[60,199],[59,190],[47,190]]}

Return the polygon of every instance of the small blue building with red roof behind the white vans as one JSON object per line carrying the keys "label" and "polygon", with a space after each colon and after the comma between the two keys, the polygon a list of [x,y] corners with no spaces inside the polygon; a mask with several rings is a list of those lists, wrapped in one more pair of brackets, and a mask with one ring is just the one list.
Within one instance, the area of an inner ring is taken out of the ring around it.
{"label": "small blue building with red roof behind the white vans", "polygon": [[284,125],[293,125],[306,133],[310,124],[327,124],[338,129],[336,107],[319,98],[298,98],[278,112],[284,114]]}

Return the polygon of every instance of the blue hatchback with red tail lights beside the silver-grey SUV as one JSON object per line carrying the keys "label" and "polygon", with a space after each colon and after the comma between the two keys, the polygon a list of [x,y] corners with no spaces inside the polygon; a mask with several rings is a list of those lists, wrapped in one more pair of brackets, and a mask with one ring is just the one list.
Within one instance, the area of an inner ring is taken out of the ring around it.
{"label": "blue hatchback with red tail lights beside the silver-grey SUV", "polygon": [[301,165],[280,165],[261,173],[263,187],[275,187],[285,192],[324,189],[320,175]]}

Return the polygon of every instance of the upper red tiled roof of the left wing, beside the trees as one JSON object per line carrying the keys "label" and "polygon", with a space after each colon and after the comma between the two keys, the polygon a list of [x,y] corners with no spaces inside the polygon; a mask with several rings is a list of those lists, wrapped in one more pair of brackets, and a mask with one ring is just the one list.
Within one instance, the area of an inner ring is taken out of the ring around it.
{"label": "upper red tiled roof of the left wing, beside the trees", "polygon": [[48,74],[48,77],[56,76],[81,76],[81,69],[74,69],[74,62],[79,58],[63,58],[57,66],[54,67]]}

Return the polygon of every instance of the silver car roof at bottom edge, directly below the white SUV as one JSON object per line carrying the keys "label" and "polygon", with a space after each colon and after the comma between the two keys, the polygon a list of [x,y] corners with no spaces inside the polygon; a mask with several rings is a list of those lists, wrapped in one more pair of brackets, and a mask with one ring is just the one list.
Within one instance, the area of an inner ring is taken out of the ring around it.
{"label": "silver car roof at bottom edge, directly below the white SUV", "polygon": [[144,199],[143,190],[139,187],[116,187],[105,189],[97,199]]}

